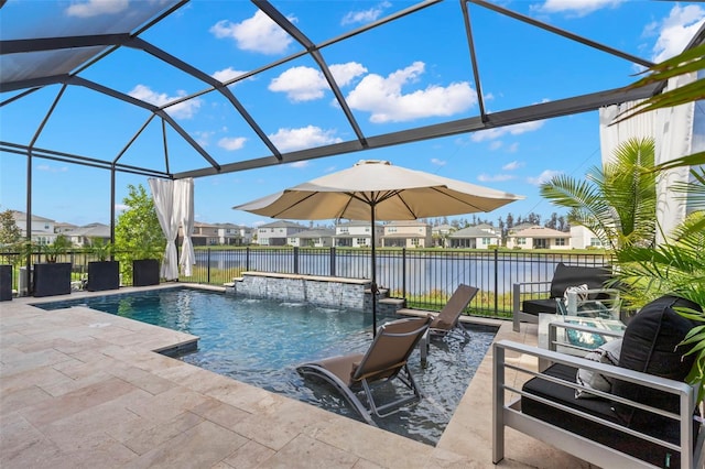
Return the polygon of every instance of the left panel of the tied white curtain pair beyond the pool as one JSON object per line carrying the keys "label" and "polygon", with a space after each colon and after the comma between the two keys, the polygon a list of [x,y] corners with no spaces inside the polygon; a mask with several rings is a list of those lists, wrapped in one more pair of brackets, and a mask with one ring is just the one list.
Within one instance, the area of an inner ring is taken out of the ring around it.
{"label": "left panel of the tied white curtain pair beyond the pool", "polygon": [[176,254],[176,236],[178,234],[180,214],[178,206],[174,204],[174,182],[170,179],[150,178],[150,189],[156,209],[156,217],[166,237],[166,249],[162,261],[161,276],[166,281],[178,279],[178,265]]}

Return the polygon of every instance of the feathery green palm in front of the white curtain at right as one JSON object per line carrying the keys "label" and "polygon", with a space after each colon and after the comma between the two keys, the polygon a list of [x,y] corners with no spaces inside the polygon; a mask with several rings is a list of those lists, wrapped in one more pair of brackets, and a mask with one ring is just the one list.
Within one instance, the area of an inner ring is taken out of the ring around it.
{"label": "feathery green palm in front of the white curtain at right", "polygon": [[541,195],[570,209],[568,221],[593,231],[611,251],[652,247],[655,240],[657,177],[654,141],[630,139],[615,150],[614,162],[593,167],[585,181],[557,175]]}

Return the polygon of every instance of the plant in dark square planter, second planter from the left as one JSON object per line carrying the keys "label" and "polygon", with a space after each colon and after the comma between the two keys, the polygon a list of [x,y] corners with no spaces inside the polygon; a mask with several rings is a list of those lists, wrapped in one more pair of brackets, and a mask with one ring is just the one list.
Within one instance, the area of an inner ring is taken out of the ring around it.
{"label": "plant in dark square planter, second planter from the left", "polygon": [[46,262],[34,264],[32,294],[34,296],[67,295],[70,293],[70,262],[57,262],[65,254],[70,242],[59,234],[53,243],[42,248]]}

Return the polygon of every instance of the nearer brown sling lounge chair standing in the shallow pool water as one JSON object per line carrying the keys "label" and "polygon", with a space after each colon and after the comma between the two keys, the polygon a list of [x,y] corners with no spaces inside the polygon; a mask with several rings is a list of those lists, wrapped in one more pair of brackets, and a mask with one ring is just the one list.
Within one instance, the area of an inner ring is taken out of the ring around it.
{"label": "nearer brown sling lounge chair standing in the shallow pool water", "polygon": [[[370,425],[375,425],[372,414],[386,417],[408,403],[422,399],[406,360],[416,343],[429,329],[432,317],[405,318],[387,323],[379,327],[372,345],[366,353],[333,357],[301,364],[296,371],[302,375],[318,377],[335,386]],[[409,393],[379,405],[372,396],[372,385],[399,379]],[[357,394],[364,392],[365,402]]]}

